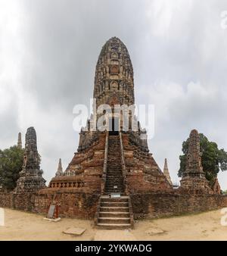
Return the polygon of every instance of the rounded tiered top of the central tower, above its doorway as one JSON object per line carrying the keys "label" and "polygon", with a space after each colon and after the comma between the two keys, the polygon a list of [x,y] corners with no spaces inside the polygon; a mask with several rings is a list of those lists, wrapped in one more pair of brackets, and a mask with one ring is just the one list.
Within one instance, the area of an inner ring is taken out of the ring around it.
{"label": "rounded tiered top of the central tower, above its doorway", "polygon": [[101,104],[134,104],[132,61],[126,45],[117,37],[110,38],[101,49],[95,70],[94,98]]}

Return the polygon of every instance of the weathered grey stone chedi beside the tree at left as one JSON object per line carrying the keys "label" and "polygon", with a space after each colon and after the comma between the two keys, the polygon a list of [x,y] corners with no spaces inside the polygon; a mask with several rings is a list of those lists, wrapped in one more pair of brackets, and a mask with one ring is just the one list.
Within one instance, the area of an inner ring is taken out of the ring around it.
{"label": "weathered grey stone chedi beside the tree at left", "polygon": [[37,192],[45,187],[45,180],[42,177],[43,171],[40,170],[39,164],[36,130],[30,127],[26,131],[23,168],[20,171],[15,192]]}

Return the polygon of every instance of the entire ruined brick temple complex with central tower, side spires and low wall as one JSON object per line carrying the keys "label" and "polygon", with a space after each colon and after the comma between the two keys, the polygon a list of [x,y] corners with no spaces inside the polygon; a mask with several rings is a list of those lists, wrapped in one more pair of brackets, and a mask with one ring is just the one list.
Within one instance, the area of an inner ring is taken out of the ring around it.
{"label": "entire ruined brick temple complex with central tower, side spires and low wall", "polygon": [[[181,186],[173,189],[167,161],[162,172],[149,152],[147,132],[134,108],[132,62],[123,42],[113,37],[98,57],[92,114],[81,128],[78,148],[66,170],[60,159],[45,187],[36,131],[30,127],[17,187],[14,192],[0,192],[0,207],[46,214],[50,205],[58,204],[61,217],[95,217],[95,226],[106,229],[129,229],[134,219],[143,217],[226,207],[227,196],[220,195],[218,180],[212,189],[208,186],[197,130],[190,133]],[[124,122],[125,110],[128,122]],[[19,136],[18,147],[22,147],[20,141]]]}

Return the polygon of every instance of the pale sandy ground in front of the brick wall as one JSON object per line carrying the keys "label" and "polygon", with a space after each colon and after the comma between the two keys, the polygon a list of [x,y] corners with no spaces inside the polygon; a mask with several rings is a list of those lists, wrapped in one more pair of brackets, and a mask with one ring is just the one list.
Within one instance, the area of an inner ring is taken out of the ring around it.
{"label": "pale sandy ground in front of the brick wall", "polygon": [[[95,229],[92,220],[64,218],[54,223],[43,220],[42,215],[5,209],[5,226],[0,226],[0,240],[227,240],[227,226],[221,226],[221,217],[220,211],[210,211],[139,220],[132,230],[101,230]],[[86,231],[82,236],[64,234],[63,231],[70,227],[86,228]]]}

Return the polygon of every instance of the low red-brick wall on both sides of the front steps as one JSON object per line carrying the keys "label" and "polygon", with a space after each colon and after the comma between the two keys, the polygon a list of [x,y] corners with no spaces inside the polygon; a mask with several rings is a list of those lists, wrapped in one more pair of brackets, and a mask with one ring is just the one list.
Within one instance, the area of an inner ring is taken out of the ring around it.
{"label": "low red-brick wall on both sides of the front steps", "polygon": [[[99,196],[85,192],[58,192],[55,199],[60,203],[60,217],[94,218]],[[135,219],[167,217],[227,207],[225,195],[149,192],[130,196]],[[53,198],[54,193],[42,191],[38,194],[0,193],[0,207],[46,214]]]}

